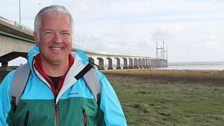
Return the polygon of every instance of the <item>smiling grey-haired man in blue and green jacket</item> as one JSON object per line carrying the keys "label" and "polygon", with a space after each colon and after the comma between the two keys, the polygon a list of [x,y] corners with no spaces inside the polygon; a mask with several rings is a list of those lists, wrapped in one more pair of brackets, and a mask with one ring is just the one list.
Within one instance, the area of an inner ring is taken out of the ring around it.
{"label": "smiling grey-haired man in blue and green jacket", "polygon": [[40,10],[34,22],[36,45],[28,53],[30,75],[14,110],[10,90],[15,71],[0,85],[0,126],[125,126],[118,98],[106,77],[98,105],[83,78],[74,76],[88,62],[83,53],[71,54],[72,17],[63,6]]}

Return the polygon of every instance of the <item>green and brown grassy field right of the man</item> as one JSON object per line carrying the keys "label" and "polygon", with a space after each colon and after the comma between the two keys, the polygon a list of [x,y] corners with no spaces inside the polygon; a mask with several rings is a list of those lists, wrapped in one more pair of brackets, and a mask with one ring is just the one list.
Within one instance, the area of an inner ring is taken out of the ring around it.
{"label": "green and brown grassy field right of the man", "polygon": [[103,71],[129,126],[223,126],[224,71]]}

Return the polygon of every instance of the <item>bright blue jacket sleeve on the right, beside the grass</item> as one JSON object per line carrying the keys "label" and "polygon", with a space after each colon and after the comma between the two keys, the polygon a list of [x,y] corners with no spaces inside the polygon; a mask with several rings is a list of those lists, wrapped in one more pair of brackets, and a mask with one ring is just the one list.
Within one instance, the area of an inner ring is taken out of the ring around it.
{"label": "bright blue jacket sleeve on the right, beside the grass", "polygon": [[102,85],[100,109],[106,126],[126,126],[126,118],[113,87],[102,73],[99,74]]}

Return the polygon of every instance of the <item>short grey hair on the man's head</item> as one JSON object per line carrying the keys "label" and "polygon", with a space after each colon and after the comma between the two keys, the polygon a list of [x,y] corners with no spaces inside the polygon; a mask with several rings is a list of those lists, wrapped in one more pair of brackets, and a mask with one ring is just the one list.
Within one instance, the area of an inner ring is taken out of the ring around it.
{"label": "short grey hair on the man's head", "polygon": [[47,6],[47,7],[44,7],[43,9],[41,9],[37,13],[35,20],[34,20],[34,32],[37,33],[38,38],[39,38],[39,30],[40,30],[40,26],[41,26],[41,20],[42,20],[44,14],[52,13],[52,12],[68,15],[70,22],[71,22],[71,27],[72,27],[72,25],[73,25],[72,16],[71,16],[70,12],[64,6],[60,6],[60,5]]}

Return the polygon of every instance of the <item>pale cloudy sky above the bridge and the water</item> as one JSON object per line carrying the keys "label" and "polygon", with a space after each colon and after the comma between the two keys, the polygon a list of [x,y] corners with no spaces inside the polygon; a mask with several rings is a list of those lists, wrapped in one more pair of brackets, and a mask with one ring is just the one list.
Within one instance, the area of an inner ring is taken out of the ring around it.
{"label": "pale cloudy sky above the bridge and the water", "polygon": [[[224,61],[223,0],[20,0],[21,23],[33,29],[52,4],[73,16],[73,47],[156,57],[164,42],[169,62]],[[1,17],[19,22],[19,0],[0,6]]]}

